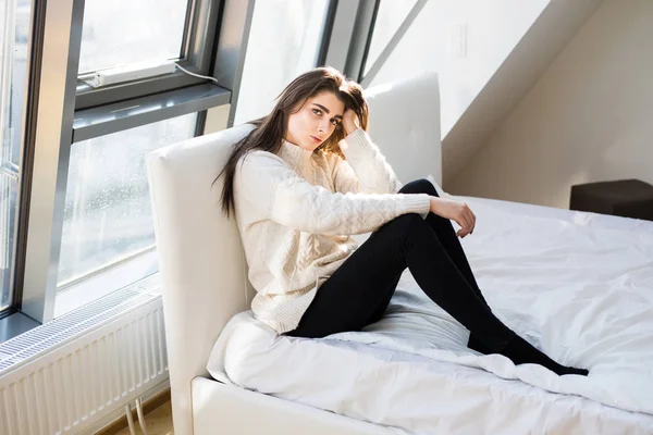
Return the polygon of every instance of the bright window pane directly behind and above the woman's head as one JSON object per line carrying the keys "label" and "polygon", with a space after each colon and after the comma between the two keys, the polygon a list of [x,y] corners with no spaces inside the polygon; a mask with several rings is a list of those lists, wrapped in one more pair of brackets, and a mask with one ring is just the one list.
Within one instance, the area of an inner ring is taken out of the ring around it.
{"label": "bright window pane directly behind and above the woman's head", "polygon": [[235,124],[269,113],[285,85],[316,66],[328,5],[326,0],[255,3]]}

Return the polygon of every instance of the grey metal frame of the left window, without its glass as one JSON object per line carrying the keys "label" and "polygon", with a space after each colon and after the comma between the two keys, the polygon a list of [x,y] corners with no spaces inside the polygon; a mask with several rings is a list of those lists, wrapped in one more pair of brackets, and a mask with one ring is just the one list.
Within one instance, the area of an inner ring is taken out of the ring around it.
{"label": "grey metal frame of the left window, without its glass", "polygon": [[[217,84],[193,78],[181,83],[183,86],[177,86],[180,83],[168,86],[172,82],[159,77],[159,88],[140,89],[136,83],[128,84],[131,87],[125,84],[121,91],[112,87],[116,96],[106,94],[104,98],[97,94],[93,108],[81,108],[84,99],[79,103],[77,72],[85,0],[33,0],[42,13],[30,41],[34,66],[25,114],[26,159],[21,174],[24,195],[20,198],[15,299],[11,308],[14,313],[10,319],[21,316],[46,323],[54,316],[72,144],[192,112],[198,114],[195,129],[198,136],[204,134],[207,110],[227,107],[231,114],[230,103],[241,85],[255,1],[195,3],[210,4],[211,14],[200,16],[213,16],[213,25],[202,27],[211,28],[204,36],[204,30],[197,27],[187,45],[204,50],[201,72],[214,77]],[[152,89],[158,91],[149,94]]]}

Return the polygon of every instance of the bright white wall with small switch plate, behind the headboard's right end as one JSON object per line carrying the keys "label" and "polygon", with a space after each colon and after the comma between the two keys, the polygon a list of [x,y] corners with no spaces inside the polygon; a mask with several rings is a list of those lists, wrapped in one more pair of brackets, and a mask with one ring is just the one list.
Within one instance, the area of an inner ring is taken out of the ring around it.
{"label": "bright white wall with small switch plate, behind the headboard's right end", "polygon": [[[414,3],[381,2],[368,69]],[[549,0],[430,0],[371,84],[436,71],[445,137],[547,4]],[[457,48],[461,25],[466,50]]]}

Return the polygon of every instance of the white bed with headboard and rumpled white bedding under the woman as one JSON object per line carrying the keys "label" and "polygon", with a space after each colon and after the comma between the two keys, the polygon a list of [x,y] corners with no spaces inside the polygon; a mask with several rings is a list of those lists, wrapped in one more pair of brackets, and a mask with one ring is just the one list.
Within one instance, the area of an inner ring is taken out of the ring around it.
{"label": "white bed with headboard and rumpled white bedding under the woman", "polygon": [[[440,188],[436,75],[368,95],[399,178]],[[463,245],[497,316],[588,378],[467,349],[408,272],[365,333],[276,336],[248,311],[237,229],[210,188],[249,128],[148,158],[175,434],[653,434],[653,223],[458,198],[478,217]]]}

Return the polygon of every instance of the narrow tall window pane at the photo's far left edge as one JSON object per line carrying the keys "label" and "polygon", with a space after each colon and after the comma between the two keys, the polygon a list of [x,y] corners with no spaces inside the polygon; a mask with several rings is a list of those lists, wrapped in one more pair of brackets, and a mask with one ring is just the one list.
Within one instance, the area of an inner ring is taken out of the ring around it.
{"label": "narrow tall window pane at the photo's far left edge", "polygon": [[[29,0],[0,1],[0,310],[11,303],[17,174],[27,79]],[[7,86],[5,86],[7,85]]]}

